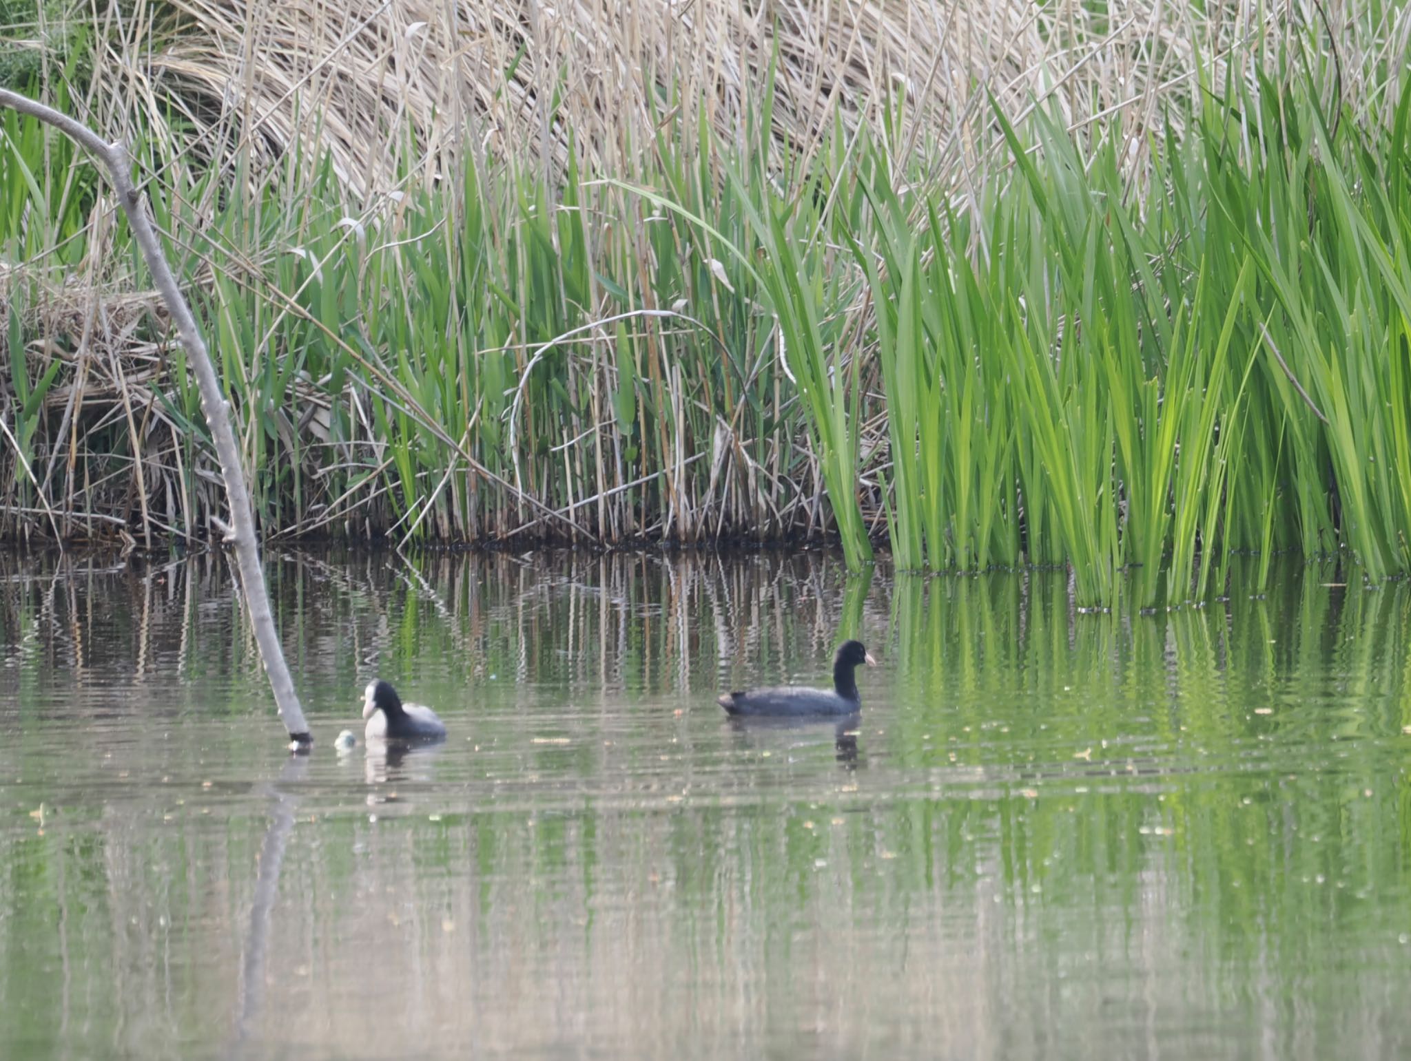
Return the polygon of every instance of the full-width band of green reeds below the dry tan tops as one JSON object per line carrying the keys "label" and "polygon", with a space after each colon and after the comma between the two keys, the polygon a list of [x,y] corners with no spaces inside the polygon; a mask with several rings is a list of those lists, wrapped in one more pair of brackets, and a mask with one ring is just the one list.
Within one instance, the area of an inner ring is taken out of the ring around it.
{"label": "full-width band of green reeds below the dry tan tops", "polygon": [[[75,107],[80,66],[30,87]],[[772,93],[727,137],[666,92],[611,172],[571,135],[562,168],[408,148],[375,192],[298,144],[134,148],[267,536],[837,536],[854,567],[1068,564],[1082,607],[1209,600],[1232,552],[1380,583],[1411,566],[1411,95],[1223,69],[1139,130],[986,100],[962,181],[926,179],[904,86],[809,152]],[[205,538],[135,248],[0,119],[0,529]]]}

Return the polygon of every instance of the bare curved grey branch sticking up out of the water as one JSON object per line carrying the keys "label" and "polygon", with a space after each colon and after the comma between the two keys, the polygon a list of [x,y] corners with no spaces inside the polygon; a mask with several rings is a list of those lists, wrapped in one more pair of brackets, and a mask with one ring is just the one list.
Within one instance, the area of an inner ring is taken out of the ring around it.
{"label": "bare curved grey branch sticking up out of the water", "polygon": [[[200,387],[200,408],[206,413],[216,456],[220,459],[220,474],[226,480],[226,497],[230,502],[230,521],[234,523],[233,538],[236,557],[240,563],[240,584],[244,588],[246,610],[255,628],[260,657],[270,676],[275,704],[279,705],[279,715],[284,718],[289,736],[299,744],[310,744],[313,738],[309,734],[309,724],[303,720],[303,708],[293,690],[293,679],[289,677],[289,667],[284,662],[279,635],[274,626],[274,615],[270,612],[264,569],[260,566],[260,547],[255,543],[255,521],[250,509],[246,475],[240,466],[240,447],[236,444],[236,433],[230,428],[230,404],[222,394],[220,378],[216,375],[216,367],[210,363],[210,354],[206,350],[206,341],[200,337],[196,317],[192,316],[190,306],[186,305],[171,265],[166,264],[166,257],[162,254],[162,247],[157,241],[157,230],[152,229],[151,219],[147,216],[147,203],[133,185],[127,148],[120,141],[104,143],[97,133],[68,114],[16,92],[0,89],[0,106],[13,107],[21,114],[54,126],[87,148],[107,168],[117,202],[121,205],[123,213],[127,214],[127,223],[133,230],[133,238],[137,240],[137,245],[143,251],[143,260],[147,262],[152,281],[166,303],[166,310],[181,333],[182,346],[190,356],[190,367],[196,372],[196,384]],[[141,470],[138,468],[138,471]]]}

